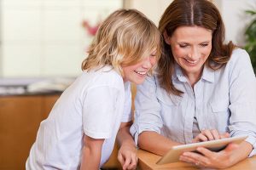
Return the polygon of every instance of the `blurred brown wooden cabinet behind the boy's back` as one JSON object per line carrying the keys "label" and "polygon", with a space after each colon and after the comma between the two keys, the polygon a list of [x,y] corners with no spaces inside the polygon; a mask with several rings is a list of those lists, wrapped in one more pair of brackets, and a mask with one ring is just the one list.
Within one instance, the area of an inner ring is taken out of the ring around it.
{"label": "blurred brown wooden cabinet behind the boy's back", "polygon": [[0,170],[25,169],[39,124],[59,95],[0,97]]}

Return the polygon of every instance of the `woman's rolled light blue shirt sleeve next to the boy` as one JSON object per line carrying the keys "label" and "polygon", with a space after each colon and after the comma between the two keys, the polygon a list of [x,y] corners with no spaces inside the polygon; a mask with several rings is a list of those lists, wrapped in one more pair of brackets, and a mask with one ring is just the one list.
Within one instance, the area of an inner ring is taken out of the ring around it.
{"label": "woman's rolled light blue shirt sleeve next to the boy", "polygon": [[138,135],[144,131],[160,133],[162,127],[160,104],[156,97],[154,77],[147,77],[142,85],[137,86],[135,99],[135,117],[130,132],[137,144]]}

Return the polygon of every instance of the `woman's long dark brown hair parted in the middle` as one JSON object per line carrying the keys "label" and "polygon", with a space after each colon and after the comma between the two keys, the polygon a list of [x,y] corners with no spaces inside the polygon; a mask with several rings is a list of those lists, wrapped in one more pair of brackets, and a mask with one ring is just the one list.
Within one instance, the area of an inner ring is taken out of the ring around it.
{"label": "woman's long dark brown hair parted in the middle", "polygon": [[[167,36],[172,37],[179,26],[201,26],[212,31],[212,51],[206,61],[207,66],[218,70],[229,61],[235,45],[232,42],[224,44],[224,23],[213,3],[207,0],[174,0],[162,15],[159,30],[161,34],[166,31]],[[169,94],[183,94],[172,84],[175,60],[166,42],[158,65],[160,86]]]}

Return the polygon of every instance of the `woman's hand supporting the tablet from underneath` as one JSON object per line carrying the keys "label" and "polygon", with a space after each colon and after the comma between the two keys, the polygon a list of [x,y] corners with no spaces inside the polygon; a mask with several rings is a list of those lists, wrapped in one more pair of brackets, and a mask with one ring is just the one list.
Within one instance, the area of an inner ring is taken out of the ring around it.
{"label": "woman's hand supporting the tablet from underneath", "polygon": [[219,152],[207,150],[203,147],[198,147],[196,150],[201,154],[184,152],[179,160],[193,163],[198,167],[226,168],[236,163],[234,156],[237,156],[237,154],[239,154],[238,151],[241,149],[238,148],[238,144],[231,143],[224,150]]}

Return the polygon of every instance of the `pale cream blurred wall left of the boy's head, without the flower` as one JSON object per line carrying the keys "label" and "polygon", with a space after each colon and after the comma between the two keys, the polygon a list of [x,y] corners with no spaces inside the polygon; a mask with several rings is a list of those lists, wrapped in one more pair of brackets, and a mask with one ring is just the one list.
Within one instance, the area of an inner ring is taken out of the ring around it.
{"label": "pale cream blurred wall left of the boy's head, without the flower", "polygon": [[2,0],[0,77],[77,76],[91,25],[120,0]]}

